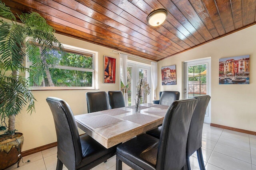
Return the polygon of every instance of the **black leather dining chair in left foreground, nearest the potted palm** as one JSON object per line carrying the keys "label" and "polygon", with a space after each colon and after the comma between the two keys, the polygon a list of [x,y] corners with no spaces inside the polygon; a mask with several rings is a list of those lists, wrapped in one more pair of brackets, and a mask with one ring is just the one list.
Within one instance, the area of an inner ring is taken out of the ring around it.
{"label": "black leather dining chair in left foreground, nearest the potted palm", "polygon": [[70,106],[59,98],[48,97],[57,135],[57,167],[69,170],[89,170],[116,154],[116,146],[106,149],[88,135],[79,137]]}

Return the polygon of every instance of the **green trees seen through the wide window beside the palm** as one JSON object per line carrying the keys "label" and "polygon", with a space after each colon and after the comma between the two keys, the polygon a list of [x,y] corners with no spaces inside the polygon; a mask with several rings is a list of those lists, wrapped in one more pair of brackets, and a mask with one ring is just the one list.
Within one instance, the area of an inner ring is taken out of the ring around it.
{"label": "green trees seen through the wide window beside the palm", "polygon": [[[54,53],[54,65],[45,68],[42,84],[30,79],[32,87],[92,87],[93,55],[67,51],[63,55]],[[50,62],[50,61],[46,61]],[[30,75],[31,76],[31,75]]]}

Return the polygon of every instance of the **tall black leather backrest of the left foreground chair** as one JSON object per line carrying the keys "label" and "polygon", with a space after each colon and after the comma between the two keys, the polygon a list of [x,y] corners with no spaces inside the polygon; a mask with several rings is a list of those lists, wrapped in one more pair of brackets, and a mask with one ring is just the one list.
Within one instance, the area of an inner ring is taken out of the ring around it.
{"label": "tall black leather backrest of the left foreground chair", "polygon": [[48,97],[46,101],[54,119],[58,159],[68,169],[74,170],[82,160],[82,147],[73,112],[64,100]]}

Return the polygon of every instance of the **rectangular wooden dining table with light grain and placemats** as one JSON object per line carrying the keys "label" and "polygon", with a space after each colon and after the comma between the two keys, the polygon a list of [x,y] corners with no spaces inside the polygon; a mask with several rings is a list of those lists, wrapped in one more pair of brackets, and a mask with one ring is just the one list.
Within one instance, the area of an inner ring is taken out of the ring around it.
{"label": "rectangular wooden dining table with light grain and placemats", "polygon": [[141,104],[75,115],[77,126],[105,148],[113,147],[162,124],[169,106]]}

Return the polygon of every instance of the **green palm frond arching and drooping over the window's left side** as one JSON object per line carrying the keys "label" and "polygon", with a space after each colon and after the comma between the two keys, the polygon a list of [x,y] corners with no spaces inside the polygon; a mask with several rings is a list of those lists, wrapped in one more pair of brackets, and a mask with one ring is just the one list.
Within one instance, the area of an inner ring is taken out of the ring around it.
{"label": "green palm frond arching and drooping over the window's left side", "polygon": [[[62,44],[54,37],[55,31],[50,25],[46,23],[46,20],[37,13],[22,14],[19,16],[25,23],[24,29],[28,35],[26,41],[26,54],[29,60],[32,62],[30,68],[30,78],[40,85],[43,80],[42,73],[44,69],[54,58],[50,51],[58,50],[63,51]],[[35,22],[36,21],[36,22]]]}

